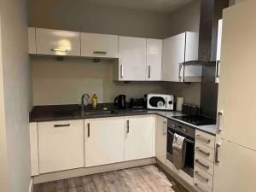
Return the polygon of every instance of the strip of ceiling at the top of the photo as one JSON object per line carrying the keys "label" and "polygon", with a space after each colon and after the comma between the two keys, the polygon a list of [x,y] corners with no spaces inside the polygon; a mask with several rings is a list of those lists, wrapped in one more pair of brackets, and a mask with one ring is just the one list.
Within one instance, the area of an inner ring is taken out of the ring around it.
{"label": "strip of ceiling at the top of the photo", "polygon": [[129,9],[142,9],[161,13],[171,13],[185,4],[195,0],[84,0]]}

